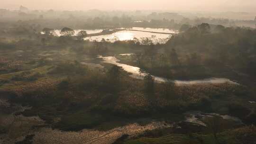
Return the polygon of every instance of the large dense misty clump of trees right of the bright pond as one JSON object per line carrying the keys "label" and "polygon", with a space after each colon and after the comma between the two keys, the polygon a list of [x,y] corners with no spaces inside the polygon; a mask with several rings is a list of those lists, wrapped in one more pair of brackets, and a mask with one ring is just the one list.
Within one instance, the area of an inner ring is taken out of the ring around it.
{"label": "large dense misty clump of trees right of the bright pond", "polygon": [[223,70],[254,77],[255,35],[256,30],[241,27],[184,25],[183,32],[172,36],[165,45],[149,42],[145,52],[136,54],[134,59],[147,72],[163,77],[170,72],[182,79],[214,77],[223,74]]}

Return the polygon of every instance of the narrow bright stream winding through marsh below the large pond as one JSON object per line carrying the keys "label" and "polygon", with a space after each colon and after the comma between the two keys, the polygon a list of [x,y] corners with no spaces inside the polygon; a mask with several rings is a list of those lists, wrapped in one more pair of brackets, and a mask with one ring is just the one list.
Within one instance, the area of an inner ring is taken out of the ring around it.
{"label": "narrow bright stream winding through marsh below the large pond", "polygon": [[[123,54],[124,55],[124,54]],[[126,54],[125,54],[126,55]],[[121,67],[126,72],[131,73],[131,77],[136,79],[144,79],[144,76],[146,75],[145,72],[141,72],[139,67],[131,66],[128,64],[118,63],[120,60],[117,59],[115,56],[99,56],[98,58],[102,58],[103,63],[110,63],[115,64],[119,67]],[[155,81],[157,82],[165,82],[167,79],[163,77],[153,76],[155,78]],[[232,84],[238,84],[237,82],[231,81],[226,78],[210,78],[210,79],[204,79],[204,80],[191,80],[191,81],[180,81],[175,80],[174,81],[176,85],[191,85],[191,84],[201,84],[201,83],[232,83]]]}

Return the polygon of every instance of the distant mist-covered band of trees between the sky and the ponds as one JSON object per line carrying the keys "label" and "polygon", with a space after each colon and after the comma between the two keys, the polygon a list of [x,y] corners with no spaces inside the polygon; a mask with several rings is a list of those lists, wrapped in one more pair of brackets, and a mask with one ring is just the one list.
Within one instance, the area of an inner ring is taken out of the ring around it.
{"label": "distant mist-covered band of trees between the sky and the ponds", "polygon": [[144,12],[144,11],[40,11],[0,9],[0,28],[33,27],[39,31],[44,27],[61,29],[97,29],[113,27],[165,27],[179,29],[182,24],[192,26],[201,23],[223,25],[226,27],[245,26],[255,27],[253,20],[232,20],[228,18],[190,17],[188,14],[172,12]]}

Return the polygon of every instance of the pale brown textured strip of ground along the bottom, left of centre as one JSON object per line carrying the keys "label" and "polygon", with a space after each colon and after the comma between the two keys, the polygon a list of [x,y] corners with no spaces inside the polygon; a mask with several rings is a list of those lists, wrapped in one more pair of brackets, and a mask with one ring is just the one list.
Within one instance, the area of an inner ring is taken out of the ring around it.
{"label": "pale brown textured strip of ground along the bottom, left of centre", "polygon": [[80,132],[63,132],[51,128],[42,128],[35,133],[33,141],[34,144],[112,144],[124,134],[133,137],[142,134],[146,130],[170,126],[164,122],[152,122],[146,126],[134,123],[109,131],[84,129]]}

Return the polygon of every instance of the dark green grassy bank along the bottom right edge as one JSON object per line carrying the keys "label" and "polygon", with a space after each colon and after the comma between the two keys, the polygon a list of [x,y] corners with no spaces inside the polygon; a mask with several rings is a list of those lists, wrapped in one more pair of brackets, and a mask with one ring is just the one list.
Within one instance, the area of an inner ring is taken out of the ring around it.
{"label": "dark green grassy bank along the bottom right edge", "polygon": [[212,134],[173,134],[160,137],[140,137],[124,141],[123,144],[254,144],[255,126],[241,127],[219,133],[215,139]]}

